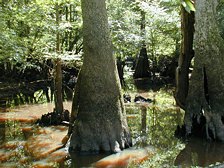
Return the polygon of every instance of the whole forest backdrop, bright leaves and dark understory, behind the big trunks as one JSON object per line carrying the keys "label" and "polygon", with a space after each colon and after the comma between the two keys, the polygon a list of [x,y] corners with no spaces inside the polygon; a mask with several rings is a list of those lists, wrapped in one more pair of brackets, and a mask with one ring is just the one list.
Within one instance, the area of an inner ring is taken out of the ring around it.
{"label": "whole forest backdrop, bright leaves and dark understory, behind the big trunks", "polygon": [[[218,26],[222,37],[223,9],[221,4]],[[83,60],[80,1],[2,0],[0,10],[0,84],[5,89],[1,101],[8,95],[8,105],[52,101],[57,65],[62,66],[63,99],[71,99]],[[193,3],[108,0],[107,11],[114,56],[134,63],[144,46],[152,83],[174,86],[183,42],[181,15],[194,12]],[[190,32],[193,34],[193,29]],[[190,64],[192,68],[194,62]],[[181,106],[185,100],[179,98]]]}

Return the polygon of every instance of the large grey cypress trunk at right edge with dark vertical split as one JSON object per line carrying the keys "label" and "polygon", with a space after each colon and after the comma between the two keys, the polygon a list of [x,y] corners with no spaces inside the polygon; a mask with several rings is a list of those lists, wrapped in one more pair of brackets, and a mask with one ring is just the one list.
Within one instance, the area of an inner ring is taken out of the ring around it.
{"label": "large grey cypress trunk at right edge with dark vertical split", "polygon": [[217,26],[217,5],[218,0],[196,1],[195,62],[185,125],[187,134],[198,124],[206,128],[207,138],[224,141],[224,41]]}

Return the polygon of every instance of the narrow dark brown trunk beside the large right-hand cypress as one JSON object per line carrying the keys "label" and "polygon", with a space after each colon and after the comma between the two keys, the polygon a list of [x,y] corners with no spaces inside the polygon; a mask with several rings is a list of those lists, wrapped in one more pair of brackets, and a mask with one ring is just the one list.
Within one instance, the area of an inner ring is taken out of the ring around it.
{"label": "narrow dark brown trunk beside the large right-hand cypress", "polygon": [[176,69],[176,91],[174,97],[177,105],[184,109],[189,89],[189,67],[194,57],[194,12],[188,13],[182,6],[181,13],[182,44],[181,55]]}

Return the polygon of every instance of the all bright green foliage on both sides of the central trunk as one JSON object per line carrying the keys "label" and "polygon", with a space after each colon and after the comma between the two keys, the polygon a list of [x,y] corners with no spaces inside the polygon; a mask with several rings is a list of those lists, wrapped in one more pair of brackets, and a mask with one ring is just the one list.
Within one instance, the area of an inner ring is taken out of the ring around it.
{"label": "all bright green foliage on both sides of the central trunk", "polygon": [[[114,55],[135,57],[142,40],[146,41],[150,59],[158,61],[163,55],[172,55],[180,39],[178,6],[175,0],[107,0]],[[144,38],[140,32],[141,11],[146,15]],[[0,17],[0,62],[18,65],[30,60],[34,64],[35,59],[82,53],[80,0],[3,1]],[[55,52],[57,32],[60,55]]]}

